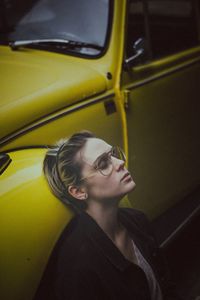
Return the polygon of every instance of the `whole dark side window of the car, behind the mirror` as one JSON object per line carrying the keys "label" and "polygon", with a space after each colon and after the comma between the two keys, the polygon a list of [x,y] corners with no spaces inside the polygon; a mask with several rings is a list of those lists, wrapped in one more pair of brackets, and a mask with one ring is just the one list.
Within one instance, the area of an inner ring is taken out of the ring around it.
{"label": "whole dark side window of the car, behind the mirror", "polygon": [[128,11],[127,55],[145,38],[148,58],[159,58],[199,44],[198,0],[131,0]]}

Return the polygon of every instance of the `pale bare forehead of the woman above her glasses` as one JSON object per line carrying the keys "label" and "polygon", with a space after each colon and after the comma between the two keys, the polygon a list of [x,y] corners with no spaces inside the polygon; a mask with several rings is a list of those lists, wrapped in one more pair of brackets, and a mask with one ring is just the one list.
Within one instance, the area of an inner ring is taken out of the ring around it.
{"label": "pale bare forehead of the woman above her glasses", "polygon": [[106,143],[104,140],[90,138],[81,150],[81,156],[88,163],[93,163],[100,155],[108,152],[111,148],[111,145]]}

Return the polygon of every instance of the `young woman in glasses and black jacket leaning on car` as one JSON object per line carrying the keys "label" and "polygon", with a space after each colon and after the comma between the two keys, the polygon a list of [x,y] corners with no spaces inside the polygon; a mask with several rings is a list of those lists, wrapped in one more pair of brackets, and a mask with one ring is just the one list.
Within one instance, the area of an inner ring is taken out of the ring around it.
{"label": "young woman in glasses and black jacket leaning on car", "polygon": [[90,132],[50,149],[44,173],[52,192],[77,214],[51,255],[35,299],[179,299],[150,223],[119,208],[135,187],[125,155]]}

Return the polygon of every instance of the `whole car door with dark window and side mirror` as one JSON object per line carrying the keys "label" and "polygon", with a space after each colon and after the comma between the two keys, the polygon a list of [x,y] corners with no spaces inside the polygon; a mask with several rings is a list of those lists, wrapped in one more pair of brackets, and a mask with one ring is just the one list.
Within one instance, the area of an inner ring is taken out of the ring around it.
{"label": "whole car door with dark window and side mirror", "polygon": [[200,182],[198,1],[131,0],[126,34],[130,200],[156,217]]}

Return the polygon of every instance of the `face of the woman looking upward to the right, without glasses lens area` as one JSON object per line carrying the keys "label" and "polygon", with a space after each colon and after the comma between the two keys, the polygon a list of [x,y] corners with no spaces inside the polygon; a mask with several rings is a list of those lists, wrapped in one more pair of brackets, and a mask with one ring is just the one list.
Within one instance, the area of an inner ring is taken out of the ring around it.
{"label": "face of the woman looking upward to the right, without glasses lens area", "polygon": [[83,164],[82,177],[85,178],[83,182],[89,199],[120,200],[135,187],[135,182],[125,168],[125,162],[121,159],[110,155],[112,167],[111,173],[107,176],[94,169],[94,162],[111,149],[112,147],[105,141],[90,138],[78,153]]}

